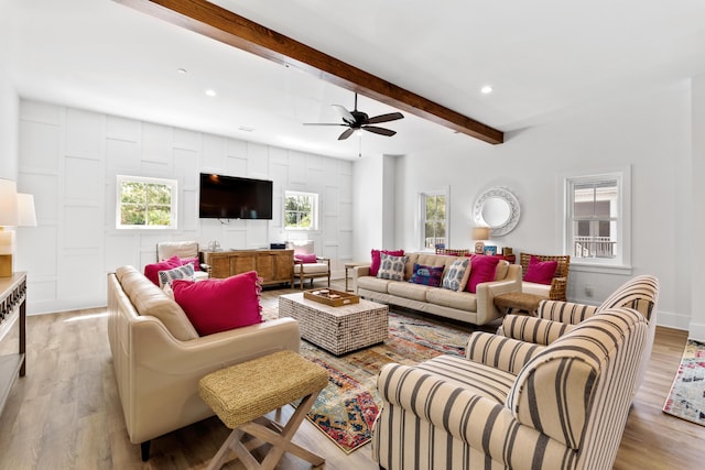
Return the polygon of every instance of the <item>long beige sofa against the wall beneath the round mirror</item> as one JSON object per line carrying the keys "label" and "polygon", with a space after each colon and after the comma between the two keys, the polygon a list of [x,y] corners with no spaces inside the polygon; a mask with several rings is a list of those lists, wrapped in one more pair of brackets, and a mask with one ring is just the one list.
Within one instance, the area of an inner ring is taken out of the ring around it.
{"label": "long beige sofa against the wall beneath the round mirror", "polygon": [[485,325],[502,314],[495,306],[495,296],[521,291],[521,266],[500,261],[495,281],[477,285],[477,293],[454,292],[408,282],[414,263],[449,266],[458,256],[432,253],[408,253],[404,281],[389,281],[369,275],[369,265],[352,270],[352,286],[358,295],[384,304],[399,305],[422,313],[438,315],[474,325]]}

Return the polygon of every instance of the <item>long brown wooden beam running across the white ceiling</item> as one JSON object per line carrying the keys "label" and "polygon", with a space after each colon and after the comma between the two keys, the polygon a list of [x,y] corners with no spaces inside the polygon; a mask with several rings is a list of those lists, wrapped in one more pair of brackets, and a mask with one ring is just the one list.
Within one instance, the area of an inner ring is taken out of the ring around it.
{"label": "long brown wooden beam running across the white ceiling", "polygon": [[499,144],[501,131],[279,34],[205,0],[115,0],[278,64],[293,66],[393,108],[481,141]]}

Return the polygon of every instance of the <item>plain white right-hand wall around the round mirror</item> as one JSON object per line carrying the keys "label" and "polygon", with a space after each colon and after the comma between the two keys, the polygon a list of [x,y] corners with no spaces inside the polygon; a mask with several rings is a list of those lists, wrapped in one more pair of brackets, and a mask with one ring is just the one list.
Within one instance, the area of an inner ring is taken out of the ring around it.
{"label": "plain white right-hand wall around the round mirror", "polygon": [[[416,195],[449,185],[447,244],[469,248],[473,205],[482,190],[498,185],[517,195],[521,219],[511,233],[491,242],[514,252],[562,253],[561,176],[629,165],[632,270],[604,274],[574,269],[568,297],[597,304],[629,276],[654,274],[661,281],[659,324],[687,328],[690,260],[697,252],[688,234],[690,183],[683,182],[688,179],[691,162],[690,90],[684,80],[597,102],[508,135],[502,145],[478,146],[471,153],[448,145],[402,157],[397,167],[403,181],[397,193],[397,244],[419,249]],[[686,217],[680,217],[684,208]],[[586,296],[586,284],[594,286],[593,297]]]}

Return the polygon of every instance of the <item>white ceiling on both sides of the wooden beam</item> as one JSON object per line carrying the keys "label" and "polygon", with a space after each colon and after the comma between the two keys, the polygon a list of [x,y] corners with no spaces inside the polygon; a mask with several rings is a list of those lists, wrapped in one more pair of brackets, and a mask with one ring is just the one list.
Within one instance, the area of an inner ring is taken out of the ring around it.
{"label": "white ceiling on both sides of the wooden beam", "polygon": [[[702,0],[215,3],[505,132],[705,74]],[[344,159],[360,147],[302,125],[339,122],[330,105],[351,109],[352,92],[111,0],[0,0],[0,64],[24,98]],[[398,134],[365,133],[362,155],[489,145],[410,113],[383,127]]]}

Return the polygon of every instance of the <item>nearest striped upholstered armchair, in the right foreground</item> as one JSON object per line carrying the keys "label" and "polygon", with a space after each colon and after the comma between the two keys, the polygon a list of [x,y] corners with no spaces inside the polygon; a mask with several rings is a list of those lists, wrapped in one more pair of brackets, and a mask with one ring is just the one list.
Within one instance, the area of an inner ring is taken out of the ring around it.
{"label": "nearest striped upholstered armchair, in the right foreground", "polygon": [[473,334],[466,358],[388,364],[372,458],[387,470],[611,469],[648,328],[615,308],[546,347]]}

